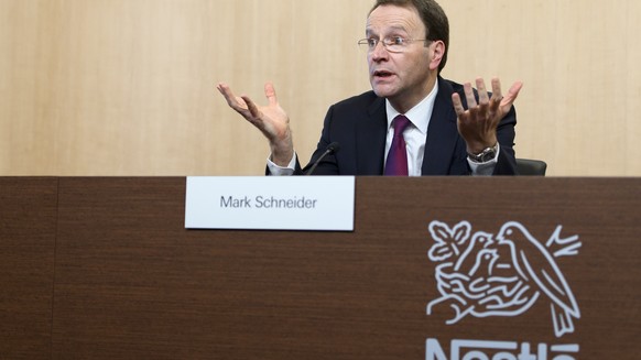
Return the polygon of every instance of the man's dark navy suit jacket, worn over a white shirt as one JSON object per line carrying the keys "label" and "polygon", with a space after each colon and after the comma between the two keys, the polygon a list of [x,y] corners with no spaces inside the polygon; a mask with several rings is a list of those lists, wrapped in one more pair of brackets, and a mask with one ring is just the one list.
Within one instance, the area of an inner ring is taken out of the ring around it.
{"label": "man's dark navy suit jacket, worn over a white shirt", "polygon": [[[463,85],[438,77],[438,94],[427,130],[423,175],[469,175],[466,144],[456,127],[456,112],[452,103],[454,92],[465,102]],[[464,103],[464,106],[467,106]],[[495,175],[517,174],[514,159],[514,108],[501,120],[498,140],[501,145]],[[340,150],[326,156],[314,171],[315,175],[382,175],[384,165],[388,120],[385,101],[368,91],[340,101],[329,108],[320,140],[309,165],[301,168],[296,159],[295,174],[304,174],[332,142]]]}

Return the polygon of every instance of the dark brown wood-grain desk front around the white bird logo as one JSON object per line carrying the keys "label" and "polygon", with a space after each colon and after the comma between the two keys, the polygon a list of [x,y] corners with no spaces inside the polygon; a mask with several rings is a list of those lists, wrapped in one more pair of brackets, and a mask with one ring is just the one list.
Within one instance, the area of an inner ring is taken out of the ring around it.
{"label": "dark brown wood-grain desk front around the white bird logo", "polygon": [[[184,177],[0,185],[2,359],[425,359],[428,338],[641,351],[635,178],[359,177],[352,232],[186,230]],[[556,260],[575,330],[555,337],[543,297],[515,317],[427,315],[434,220],[577,236]]]}

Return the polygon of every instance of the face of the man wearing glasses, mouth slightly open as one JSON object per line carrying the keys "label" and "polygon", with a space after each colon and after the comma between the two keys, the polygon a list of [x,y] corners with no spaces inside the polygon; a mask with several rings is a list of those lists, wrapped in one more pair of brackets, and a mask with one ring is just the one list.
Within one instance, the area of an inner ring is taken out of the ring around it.
{"label": "face of the man wearing glasses, mouth slightly open", "polygon": [[[371,87],[401,112],[425,98],[436,79],[437,70],[431,68],[432,43],[420,41],[425,39],[425,25],[413,8],[381,6],[367,21],[366,36],[380,40],[367,56]],[[395,36],[419,41],[408,42],[401,53],[392,53],[383,46],[382,40]]]}

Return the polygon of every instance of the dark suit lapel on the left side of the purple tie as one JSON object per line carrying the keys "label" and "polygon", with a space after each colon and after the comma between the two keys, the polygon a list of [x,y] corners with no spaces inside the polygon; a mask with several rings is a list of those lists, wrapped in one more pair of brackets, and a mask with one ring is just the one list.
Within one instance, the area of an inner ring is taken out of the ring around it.
{"label": "dark suit lapel on the left side of the purple tie", "polygon": [[376,98],[367,114],[356,124],[357,174],[382,175],[388,133],[384,99]]}

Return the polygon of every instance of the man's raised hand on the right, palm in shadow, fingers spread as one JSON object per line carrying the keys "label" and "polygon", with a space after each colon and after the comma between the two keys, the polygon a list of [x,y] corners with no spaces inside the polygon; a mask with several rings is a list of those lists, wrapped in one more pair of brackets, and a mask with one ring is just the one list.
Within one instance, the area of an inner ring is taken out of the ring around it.
{"label": "man's raised hand on the right, palm in shadow, fingers spread", "polygon": [[469,153],[479,153],[484,149],[493,146],[497,143],[497,127],[512,108],[521,87],[523,87],[523,83],[514,83],[504,97],[502,96],[501,83],[498,78],[492,79],[491,98],[482,78],[476,80],[476,87],[479,98],[478,103],[474,96],[471,84],[464,84],[467,110],[463,107],[458,94],[452,96],[454,110],[458,118],[458,132],[465,139]]}

